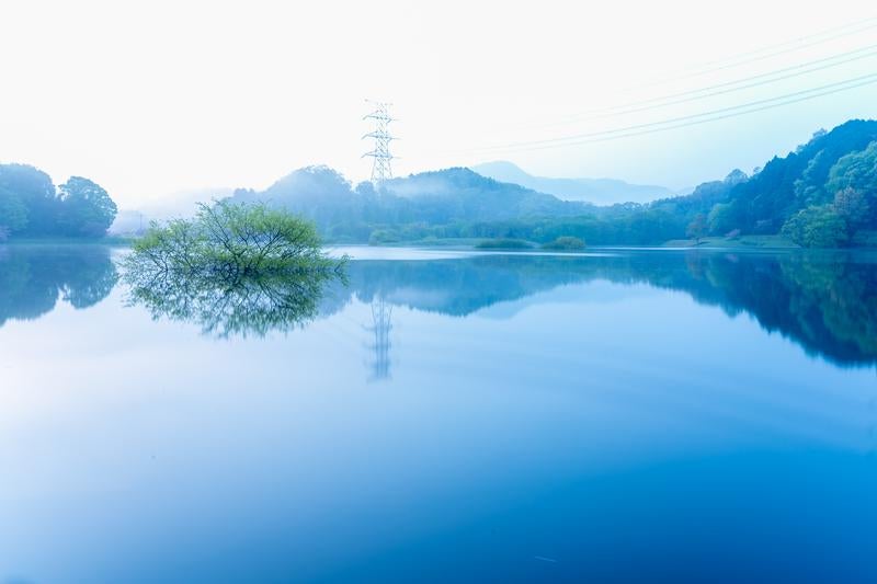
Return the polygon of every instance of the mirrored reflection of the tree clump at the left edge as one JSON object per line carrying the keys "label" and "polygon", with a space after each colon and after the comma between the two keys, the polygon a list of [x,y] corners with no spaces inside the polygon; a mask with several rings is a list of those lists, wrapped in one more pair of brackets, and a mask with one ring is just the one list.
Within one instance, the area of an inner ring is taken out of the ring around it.
{"label": "mirrored reflection of the tree clump at the left edge", "polygon": [[104,299],[117,276],[110,250],[98,245],[0,247],[0,327],[52,311],[58,297],[73,308]]}

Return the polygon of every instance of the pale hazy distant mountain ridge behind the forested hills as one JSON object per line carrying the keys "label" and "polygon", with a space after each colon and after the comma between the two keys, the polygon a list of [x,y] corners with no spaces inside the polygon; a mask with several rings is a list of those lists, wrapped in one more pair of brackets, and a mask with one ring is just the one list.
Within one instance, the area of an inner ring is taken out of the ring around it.
{"label": "pale hazy distant mountain ridge behind the forested hills", "polygon": [[554,179],[535,176],[513,162],[498,160],[470,167],[471,170],[503,183],[514,183],[563,201],[594,205],[616,203],[650,203],[677,194],[665,186],[631,184],[617,179]]}

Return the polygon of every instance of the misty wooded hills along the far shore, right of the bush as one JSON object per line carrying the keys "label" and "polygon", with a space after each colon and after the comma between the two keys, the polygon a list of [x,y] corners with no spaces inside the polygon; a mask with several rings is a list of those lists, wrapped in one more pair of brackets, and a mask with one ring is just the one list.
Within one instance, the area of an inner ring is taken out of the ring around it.
{"label": "misty wooded hills along the far shore, right of the bush", "polygon": [[264,201],[315,220],[332,241],[511,238],[660,244],[706,236],[783,234],[805,247],[877,243],[877,122],[820,130],[751,175],[733,170],[691,195],[595,206],[454,168],[355,187],[327,167],[293,172],[238,201]]}

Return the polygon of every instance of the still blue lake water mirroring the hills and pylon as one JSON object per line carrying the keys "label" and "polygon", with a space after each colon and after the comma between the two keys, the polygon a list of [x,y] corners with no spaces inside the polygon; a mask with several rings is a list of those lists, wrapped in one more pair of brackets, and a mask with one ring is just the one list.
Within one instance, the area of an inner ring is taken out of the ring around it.
{"label": "still blue lake water mirroring the hills and pylon", "polygon": [[874,256],[349,251],[0,248],[0,582],[877,581]]}

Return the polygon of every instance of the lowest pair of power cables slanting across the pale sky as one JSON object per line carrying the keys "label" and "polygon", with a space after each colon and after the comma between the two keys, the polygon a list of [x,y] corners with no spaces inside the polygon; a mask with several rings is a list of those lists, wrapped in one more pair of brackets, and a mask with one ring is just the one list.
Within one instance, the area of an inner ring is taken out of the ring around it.
{"label": "lowest pair of power cables slanting across the pale sky", "polygon": [[[593,131],[589,134],[579,134],[576,136],[566,136],[562,138],[553,138],[546,140],[533,140],[533,141],[525,141],[525,142],[516,142],[505,146],[496,146],[489,147],[483,149],[477,149],[477,151],[521,151],[521,150],[543,150],[548,148],[562,148],[567,146],[579,146],[584,144],[593,144],[599,141],[607,141],[614,140],[619,138],[629,138],[634,136],[642,136],[646,134],[654,134],[657,131],[667,131],[676,128],[683,128],[687,126],[694,126],[698,124],[706,124],[708,122],[717,122],[719,119],[727,119],[730,117],[737,117],[740,115],[751,114],[755,112],[762,112],[765,110],[772,110],[774,107],[781,107],[784,105],[790,105],[793,103],[798,103],[802,101],[812,100],[816,98],[821,98],[824,95],[831,95],[833,93],[839,93],[842,91],[848,91],[852,89],[870,85],[873,83],[877,83],[877,73],[870,73],[853,79],[847,79],[845,81],[839,81],[835,83],[829,83],[825,85],[821,85],[818,88],[812,88],[802,91],[796,91],[793,93],[787,93],[785,95],[779,95],[776,98],[770,98],[766,100],[758,100],[754,102],[734,105],[730,107],[722,107],[719,110],[713,110],[709,112],[703,112],[699,114],[692,114],[687,116],[680,116],[675,118],[663,119],[660,122],[651,122],[647,124],[637,124],[631,126],[626,126],[622,128],[602,130],[602,131]],[[777,103],[771,103],[777,102]],[[741,111],[742,110],[742,111]],[[703,119],[697,119],[703,118]],[[475,150],[474,150],[475,151]]]}

